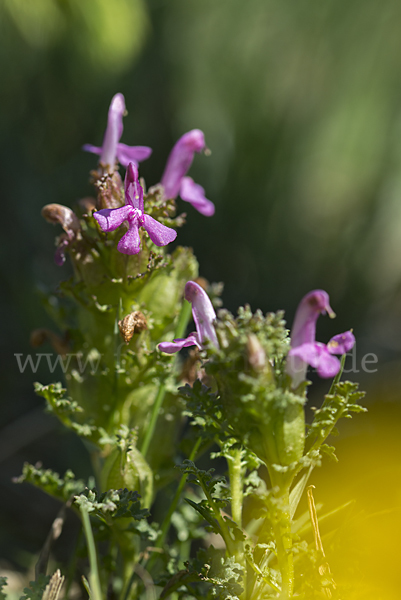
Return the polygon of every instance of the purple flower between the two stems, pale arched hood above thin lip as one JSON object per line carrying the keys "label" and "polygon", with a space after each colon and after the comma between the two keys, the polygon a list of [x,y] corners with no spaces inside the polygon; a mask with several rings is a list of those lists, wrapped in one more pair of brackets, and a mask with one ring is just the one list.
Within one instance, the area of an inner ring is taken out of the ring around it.
{"label": "purple flower between the two stems, pale arched hood above thin lip", "polygon": [[190,333],[185,339],[179,338],[172,342],[161,342],[159,350],[167,354],[174,354],[187,346],[198,346],[201,350],[206,340],[219,347],[213,321],[216,319],[213,305],[209,296],[195,281],[188,281],[185,286],[185,299],[192,304],[192,316],[195,321],[196,332]]}

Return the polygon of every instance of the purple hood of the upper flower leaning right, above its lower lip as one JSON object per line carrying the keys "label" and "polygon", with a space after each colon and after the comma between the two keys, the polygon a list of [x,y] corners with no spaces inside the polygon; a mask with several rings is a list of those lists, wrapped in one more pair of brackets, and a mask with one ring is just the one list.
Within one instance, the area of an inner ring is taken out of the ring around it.
{"label": "purple hood of the upper flower leaning right, above its lower lip", "polygon": [[173,147],[161,178],[167,198],[176,198],[180,191],[182,178],[187,174],[195,152],[205,148],[205,136],[200,129],[185,133]]}

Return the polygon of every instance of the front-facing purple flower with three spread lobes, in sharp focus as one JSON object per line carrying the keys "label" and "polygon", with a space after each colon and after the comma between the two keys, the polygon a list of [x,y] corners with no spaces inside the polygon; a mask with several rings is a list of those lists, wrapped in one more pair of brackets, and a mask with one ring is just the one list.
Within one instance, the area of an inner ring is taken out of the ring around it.
{"label": "front-facing purple flower with three spread lobes, in sharp focus", "polygon": [[177,237],[177,232],[162,225],[143,212],[143,189],[138,181],[138,168],[129,163],[125,174],[125,206],[105,208],[94,213],[96,221],[104,231],[114,231],[124,221],[128,231],[118,242],[117,250],[123,254],[138,254],[141,249],[139,227],[144,227],[156,246],[166,246]]}

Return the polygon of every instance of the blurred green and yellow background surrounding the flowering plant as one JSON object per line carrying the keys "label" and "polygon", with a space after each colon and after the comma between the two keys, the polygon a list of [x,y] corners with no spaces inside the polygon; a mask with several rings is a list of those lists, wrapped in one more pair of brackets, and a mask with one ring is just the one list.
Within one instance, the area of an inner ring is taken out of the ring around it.
{"label": "blurred green and yellow background surrounding the flowering plant", "polygon": [[[353,547],[347,535],[359,519],[358,589],[399,598],[400,3],[1,0],[0,73],[2,559],[29,565],[57,511],[11,483],[22,462],[88,468],[33,396],[33,380],[55,376],[21,375],[14,354],[30,352],[30,331],[49,325],[38,289],[69,274],[53,264],[58,232],[40,209],[91,193],[96,157],[81,146],[101,143],[111,97],[122,92],[122,141],[153,148],[141,166],[148,186],[180,135],[205,132],[212,155],[197,156],[191,175],[216,215],[180,203],[188,223],[179,242],[194,248],[204,277],[225,282],[224,305],[284,308],[291,323],[300,298],[319,287],[338,315],[320,320],[319,339],[354,328],[359,372],[349,376],[368,390],[370,412],[340,426],[341,461],[314,476],[316,499],[327,508],[356,500],[350,527],[330,537],[333,556]],[[366,353],[377,356],[375,373],[362,369]]]}

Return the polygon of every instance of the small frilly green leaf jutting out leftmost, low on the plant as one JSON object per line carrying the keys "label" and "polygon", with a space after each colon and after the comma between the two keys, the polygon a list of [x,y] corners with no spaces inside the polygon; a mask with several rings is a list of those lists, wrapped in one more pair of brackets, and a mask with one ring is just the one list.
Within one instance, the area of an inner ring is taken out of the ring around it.
{"label": "small frilly green leaf jutting out leftmost, low on the plant", "polygon": [[25,463],[22,474],[14,479],[16,483],[31,483],[40,488],[50,496],[67,502],[75,494],[79,494],[85,488],[85,482],[81,479],[75,479],[71,470],[65,472],[64,477],[51,469],[42,469],[38,466]]}

